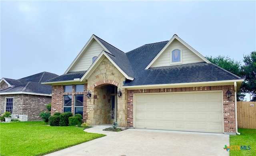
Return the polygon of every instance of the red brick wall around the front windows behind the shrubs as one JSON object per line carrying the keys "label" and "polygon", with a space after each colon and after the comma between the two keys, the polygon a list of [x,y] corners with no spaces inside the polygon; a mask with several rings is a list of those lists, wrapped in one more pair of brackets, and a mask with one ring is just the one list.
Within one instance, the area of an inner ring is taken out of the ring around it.
{"label": "red brick wall around the front windows behind the shrubs", "polygon": [[86,122],[87,118],[87,84],[84,84],[83,92],[75,92],[75,85],[72,85],[71,93],[64,93],[63,85],[52,86],[52,110],[51,115],[54,115],[55,112],[63,113],[63,99],[64,95],[72,95],[72,104],[71,112],[74,114],[74,95],[82,94],[84,95],[83,103],[83,121]]}

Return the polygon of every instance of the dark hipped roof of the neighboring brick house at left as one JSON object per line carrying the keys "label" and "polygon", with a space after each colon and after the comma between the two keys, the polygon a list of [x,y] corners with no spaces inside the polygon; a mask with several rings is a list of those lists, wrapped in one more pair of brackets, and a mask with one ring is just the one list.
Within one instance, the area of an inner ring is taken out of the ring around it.
{"label": "dark hipped roof of the neighboring brick house at left", "polygon": [[43,85],[41,82],[48,81],[58,75],[54,73],[42,72],[28,77],[23,77],[18,80],[2,78],[2,81],[9,83],[11,86],[0,91],[0,95],[6,94],[32,94],[50,96],[52,93],[52,86]]}

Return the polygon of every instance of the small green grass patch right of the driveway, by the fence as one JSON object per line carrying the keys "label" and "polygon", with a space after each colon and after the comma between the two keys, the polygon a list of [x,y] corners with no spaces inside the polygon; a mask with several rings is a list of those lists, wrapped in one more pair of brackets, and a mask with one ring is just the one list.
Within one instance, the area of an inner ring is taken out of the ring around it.
{"label": "small green grass patch right of the driveway, by the fence", "polygon": [[[256,156],[256,129],[238,128],[240,135],[230,135],[230,146],[250,146],[250,150],[229,150],[230,156]],[[247,148],[248,149],[248,148]]]}

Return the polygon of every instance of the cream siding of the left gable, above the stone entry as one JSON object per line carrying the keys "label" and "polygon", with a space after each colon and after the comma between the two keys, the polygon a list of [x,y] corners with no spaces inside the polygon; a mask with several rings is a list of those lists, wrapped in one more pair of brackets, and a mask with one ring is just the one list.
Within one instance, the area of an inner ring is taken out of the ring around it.
{"label": "cream siding of the left gable, above the stone entry", "polygon": [[70,69],[70,71],[88,70],[88,68],[92,65],[92,57],[98,56],[102,50],[104,50],[103,47],[96,40],[92,41],[80,59]]}

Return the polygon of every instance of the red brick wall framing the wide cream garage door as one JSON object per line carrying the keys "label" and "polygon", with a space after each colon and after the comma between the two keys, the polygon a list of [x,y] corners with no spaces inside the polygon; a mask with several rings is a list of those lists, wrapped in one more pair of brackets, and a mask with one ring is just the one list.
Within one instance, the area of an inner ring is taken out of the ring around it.
{"label": "red brick wall framing the wide cream garage door", "polygon": [[[226,92],[231,91],[232,96],[228,99]],[[208,86],[208,87],[182,87],[182,88],[164,88],[164,89],[136,89],[127,91],[127,126],[133,127],[133,94],[134,93],[166,93],[166,92],[185,92],[185,91],[223,91],[223,114],[224,114],[224,132],[236,132],[235,118],[235,96],[234,85],[229,86]]]}

